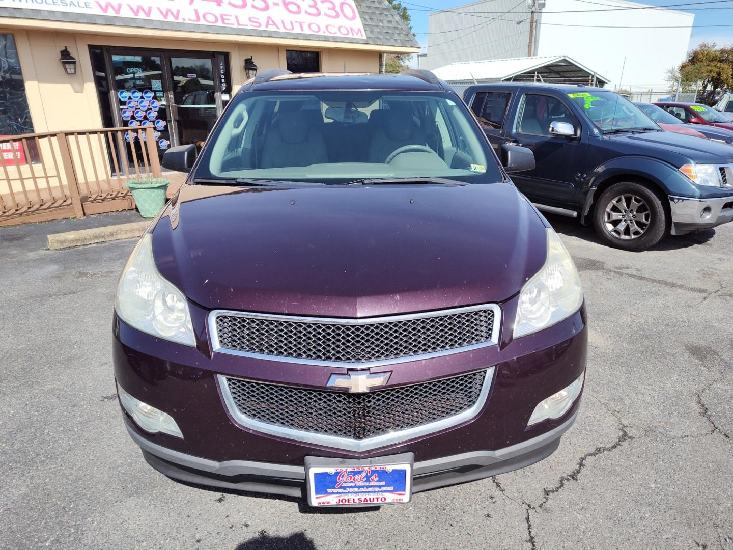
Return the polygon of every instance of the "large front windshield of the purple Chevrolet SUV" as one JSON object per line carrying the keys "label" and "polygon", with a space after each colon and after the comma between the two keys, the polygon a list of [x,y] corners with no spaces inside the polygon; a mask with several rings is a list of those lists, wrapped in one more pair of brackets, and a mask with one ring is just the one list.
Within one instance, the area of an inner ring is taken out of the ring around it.
{"label": "large front windshield of the purple Chevrolet SUV", "polygon": [[447,92],[246,92],[227,107],[195,177],[496,182],[501,169],[479,132]]}

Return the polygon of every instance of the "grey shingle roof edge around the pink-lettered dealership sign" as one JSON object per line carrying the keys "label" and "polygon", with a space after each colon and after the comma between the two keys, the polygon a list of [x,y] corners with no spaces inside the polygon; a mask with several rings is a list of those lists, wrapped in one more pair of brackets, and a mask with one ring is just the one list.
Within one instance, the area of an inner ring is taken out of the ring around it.
{"label": "grey shingle roof edge around the pink-lettered dealership sign", "polygon": [[298,32],[274,32],[262,29],[237,29],[231,26],[210,26],[193,23],[172,23],[152,19],[133,19],[107,15],[50,10],[28,10],[15,7],[0,7],[0,18],[14,17],[43,19],[46,21],[67,21],[70,23],[95,23],[104,25],[132,26],[136,28],[164,29],[173,31],[209,32],[215,34],[245,34],[247,36],[297,38],[299,40],[322,40],[325,42],[367,43],[372,45],[419,48],[420,45],[410,29],[386,0],[354,0],[364,25],[366,40],[347,37],[327,37],[320,34]]}

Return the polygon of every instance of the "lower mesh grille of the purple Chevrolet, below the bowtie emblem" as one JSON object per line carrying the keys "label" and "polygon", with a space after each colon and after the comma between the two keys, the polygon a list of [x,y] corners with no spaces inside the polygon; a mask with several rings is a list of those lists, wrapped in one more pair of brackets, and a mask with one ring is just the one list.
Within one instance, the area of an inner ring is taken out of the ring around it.
{"label": "lower mesh grille of the purple Chevrolet, below the bowtie emblem", "polygon": [[486,376],[480,370],[359,394],[224,378],[245,420],[358,441],[467,411],[479,400]]}

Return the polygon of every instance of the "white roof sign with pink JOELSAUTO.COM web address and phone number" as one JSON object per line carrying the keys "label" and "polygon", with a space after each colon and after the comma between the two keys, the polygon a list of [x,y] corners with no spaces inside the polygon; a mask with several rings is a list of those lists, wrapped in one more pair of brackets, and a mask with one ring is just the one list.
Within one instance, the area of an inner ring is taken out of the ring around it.
{"label": "white roof sign with pink JOELSAUTO.COM web address and phone number", "polygon": [[366,38],[354,0],[0,0],[0,7]]}

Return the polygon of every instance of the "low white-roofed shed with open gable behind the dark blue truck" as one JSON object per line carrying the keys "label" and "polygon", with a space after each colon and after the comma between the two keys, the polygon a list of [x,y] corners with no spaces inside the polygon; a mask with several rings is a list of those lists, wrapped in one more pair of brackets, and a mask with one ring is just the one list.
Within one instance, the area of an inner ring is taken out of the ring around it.
{"label": "low white-roofed shed with open gable behind the dark blue truck", "polygon": [[461,95],[472,84],[490,82],[556,82],[601,88],[608,84],[608,78],[567,56],[464,61],[439,67],[433,72]]}

